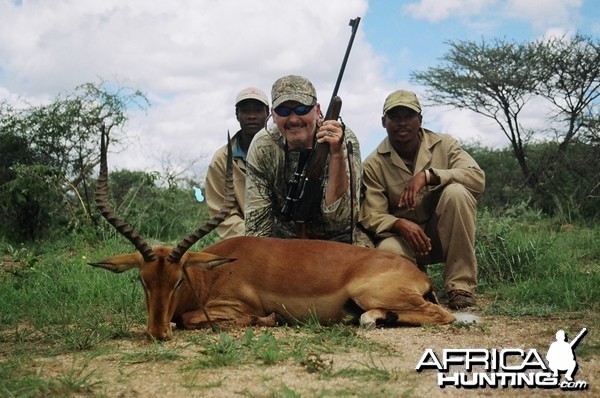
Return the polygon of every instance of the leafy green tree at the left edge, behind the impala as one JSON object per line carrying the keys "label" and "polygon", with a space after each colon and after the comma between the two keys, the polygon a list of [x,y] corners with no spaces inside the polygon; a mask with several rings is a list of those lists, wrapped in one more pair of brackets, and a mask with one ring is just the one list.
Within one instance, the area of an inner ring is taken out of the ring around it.
{"label": "leafy green tree at the left edge, behind the impala", "polygon": [[[46,105],[3,103],[0,158],[12,159],[0,164],[3,228],[15,238],[36,239],[50,220],[89,218],[101,126],[119,142],[128,111],[147,106],[141,92],[107,83],[80,85]],[[16,141],[23,146],[19,156],[11,144]]]}

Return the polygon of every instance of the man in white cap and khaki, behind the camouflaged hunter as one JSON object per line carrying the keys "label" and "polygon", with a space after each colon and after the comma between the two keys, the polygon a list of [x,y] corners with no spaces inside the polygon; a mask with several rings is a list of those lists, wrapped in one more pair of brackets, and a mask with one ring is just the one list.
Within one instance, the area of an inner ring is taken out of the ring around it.
{"label": "man in white cap and khaki, behind the camouflaged hunter", "polygon": [[[244,206],[246,195],[246,154],[250,142],[263,127],[269,116],[269,99],[254,87],[240,91],[235,100],[235,116],[240,130],[232,137],[233,184],[235,205],[227,218],[217,227],[223,239],[244,235]],[[208,166],[204,194],[208,214],[213,217],[223,204],[225,192],[225,170],[227,168],[227,145],[219,148]]]}

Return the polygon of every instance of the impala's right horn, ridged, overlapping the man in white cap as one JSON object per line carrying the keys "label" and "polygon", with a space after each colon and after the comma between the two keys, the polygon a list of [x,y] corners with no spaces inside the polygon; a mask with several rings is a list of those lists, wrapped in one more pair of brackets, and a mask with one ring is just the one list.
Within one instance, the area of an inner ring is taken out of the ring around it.
{"label": "impala's right horn, ridged, overlapping the man in white cap", "polygon": [[233,208],[235,204],[235,196],[233,190],[233,154],[231,149],[231,138],[229,137],[229,131],[227,132],[227,169],[225,173],[225,198],[223,199],[223,204],[219,209],[219,212],[215,214],[210,220],[206,222],[203,226],[189,234],[186,238],[184,238],[177,247],[171,250],[169,253],[168,260],[172,263],[178,263],[181,260],[181,257],[188,251],[190,247],[208,233],[210,233],[213,229],[215,229]]}

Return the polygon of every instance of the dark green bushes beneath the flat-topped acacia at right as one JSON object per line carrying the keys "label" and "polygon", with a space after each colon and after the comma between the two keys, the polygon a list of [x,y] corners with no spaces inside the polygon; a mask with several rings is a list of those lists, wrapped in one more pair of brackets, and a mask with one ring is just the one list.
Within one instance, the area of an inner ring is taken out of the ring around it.
{"label": "dark green bushes beneath the flat-topped acacia at right", "polygon": [[465,146],[486,173],[480,209],[504,215],[527,203],[543,214],[566,222],[600,220],[600,145],[575,140],[559,157],[558,143],[548,141],[528,147],[529,164],[538,178],[535,187],[525,182],[510,148]]}

